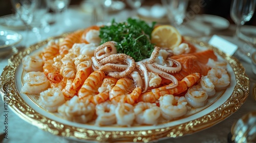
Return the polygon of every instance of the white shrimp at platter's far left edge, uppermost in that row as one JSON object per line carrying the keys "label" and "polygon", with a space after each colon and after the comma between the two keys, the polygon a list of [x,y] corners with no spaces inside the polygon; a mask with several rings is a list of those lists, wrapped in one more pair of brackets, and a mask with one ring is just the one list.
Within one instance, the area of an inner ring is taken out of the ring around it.
{"label": "white shrimp at platter's far left edge, uppermost in that row", "polygon": [[44,61],[40,56],[27,55],[22,59],[23,69],[26,71],[42,71]]}

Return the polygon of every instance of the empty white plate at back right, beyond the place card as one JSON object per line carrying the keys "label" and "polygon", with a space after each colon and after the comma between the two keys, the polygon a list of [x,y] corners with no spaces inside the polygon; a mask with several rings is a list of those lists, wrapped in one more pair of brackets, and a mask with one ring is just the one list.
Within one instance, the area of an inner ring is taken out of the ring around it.
{"label": "empty white plate at back right, beyond the place card", "polygon": [[200,14],[196,15],[194,20],[210,26],[215,30],[223,30],[229,27],[229,21],[227,19],[216,15]]}

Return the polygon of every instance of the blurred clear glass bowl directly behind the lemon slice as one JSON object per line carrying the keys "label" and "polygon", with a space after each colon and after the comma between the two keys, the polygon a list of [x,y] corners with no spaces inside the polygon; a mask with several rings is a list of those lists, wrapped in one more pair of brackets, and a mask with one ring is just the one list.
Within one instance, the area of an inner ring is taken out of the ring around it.
{"label": "blurred clear glass bowl directly behind the lemon slice", "polygon": [[179,27],[186,17],[188,0],[161,0],[166,9],[170,23],[176,28]]}

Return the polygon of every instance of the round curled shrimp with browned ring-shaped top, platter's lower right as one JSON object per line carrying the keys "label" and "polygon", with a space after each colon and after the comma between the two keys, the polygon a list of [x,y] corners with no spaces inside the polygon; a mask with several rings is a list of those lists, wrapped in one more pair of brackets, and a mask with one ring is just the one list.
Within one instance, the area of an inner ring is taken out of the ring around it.
{"label": "round curled shrimp with browned ring-shaped top, platter's lower right", "polygon": [[199,85],[189,87],[184,97],[193,107],[203,107],[208,101],[207,93]]}

